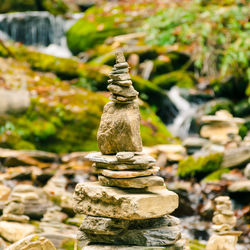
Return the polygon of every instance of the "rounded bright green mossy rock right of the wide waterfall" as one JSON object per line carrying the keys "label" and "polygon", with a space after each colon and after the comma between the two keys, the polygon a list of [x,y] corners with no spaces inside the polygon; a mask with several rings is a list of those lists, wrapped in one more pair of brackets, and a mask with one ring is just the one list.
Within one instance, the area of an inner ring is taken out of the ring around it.
{"label": "rounded bright green mossy rock right of the wide waterfall", "polygon": [[120,24],[125,15],[117,8],[116,14],[104,12],[102,8],[91,7],[67,32],[69,49],[77,55],[82,51],[101,44],[108,37],[124,33]]}

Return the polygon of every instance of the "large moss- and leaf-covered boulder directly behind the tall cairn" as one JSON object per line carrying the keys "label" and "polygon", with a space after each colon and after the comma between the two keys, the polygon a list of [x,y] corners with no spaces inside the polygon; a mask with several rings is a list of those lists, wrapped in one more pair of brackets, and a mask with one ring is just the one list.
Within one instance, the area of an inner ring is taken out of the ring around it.
{"label": "large moss- and leaf-covered boulder directly behind the tall cairn", "polygon": [[[25,80],[31,95],[27,111],[1,116],[1,147],[58,153],[97,150],[96,133],[106,95],[34,72],[13,59],[0,58],[0,64],[1,87],[13,89]],[[145,103],[140,109],[144,144],[168,143],[172,137],[152,109]]]}

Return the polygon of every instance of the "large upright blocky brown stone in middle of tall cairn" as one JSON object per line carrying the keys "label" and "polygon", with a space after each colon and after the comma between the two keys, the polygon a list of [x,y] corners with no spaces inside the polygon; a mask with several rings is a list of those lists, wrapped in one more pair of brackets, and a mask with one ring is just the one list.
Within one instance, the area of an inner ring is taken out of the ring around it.
{"label": "large upright blocky brown stone in middle of tall cairn", "polygon": [[101,117],[97,142],[103,154],[142,151],[138,104],[107,103]]}

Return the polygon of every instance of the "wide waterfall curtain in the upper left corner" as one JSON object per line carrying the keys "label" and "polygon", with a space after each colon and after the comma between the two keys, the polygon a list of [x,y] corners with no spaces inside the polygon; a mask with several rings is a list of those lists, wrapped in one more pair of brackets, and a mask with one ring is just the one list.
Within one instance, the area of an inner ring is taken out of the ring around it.
{"label": "wide waterfall curtain in the upper left corner", "polygon": [[46,11],[0,14],[0,38],[37,46],[47,54],[70,57],[65,32],[82,15],[72,15],[66,20]]}

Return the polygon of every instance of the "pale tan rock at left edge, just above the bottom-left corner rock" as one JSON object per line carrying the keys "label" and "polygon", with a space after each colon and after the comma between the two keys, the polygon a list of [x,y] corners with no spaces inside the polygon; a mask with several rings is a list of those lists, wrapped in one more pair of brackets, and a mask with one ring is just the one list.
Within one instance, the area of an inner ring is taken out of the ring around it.
{"label": "pale tan rock at left edge, just above the bottom-left corner rock", "polygon": [[35,227],[30,224],[0,221],[0,236],[10,242],[16,242],[35,232]]}

